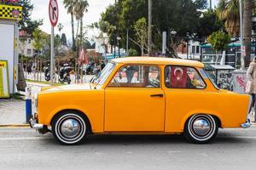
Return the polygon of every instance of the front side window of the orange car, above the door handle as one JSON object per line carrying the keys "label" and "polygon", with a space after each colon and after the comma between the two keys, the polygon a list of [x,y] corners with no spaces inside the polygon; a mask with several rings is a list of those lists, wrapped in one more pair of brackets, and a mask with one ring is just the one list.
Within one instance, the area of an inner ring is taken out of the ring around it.
{"label": "front side window of the orange car, above the door handle", "polygon": [[160,68],[153,65],[125,65],[117,71],[108,87],[160,88]]}

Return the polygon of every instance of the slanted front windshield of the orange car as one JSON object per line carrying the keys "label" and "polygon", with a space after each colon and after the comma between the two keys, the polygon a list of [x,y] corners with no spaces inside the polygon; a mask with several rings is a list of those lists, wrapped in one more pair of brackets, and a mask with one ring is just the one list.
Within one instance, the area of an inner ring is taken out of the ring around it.
{"label": "slanted front windshield of the orange car", "polygon": [[98,74],[98,76],[95,78],[94,82],[98,85],[102,85],[106,80],[108,79],[109,75],[113,71],[115,67],[114,63],[108,63],[104,69]]}

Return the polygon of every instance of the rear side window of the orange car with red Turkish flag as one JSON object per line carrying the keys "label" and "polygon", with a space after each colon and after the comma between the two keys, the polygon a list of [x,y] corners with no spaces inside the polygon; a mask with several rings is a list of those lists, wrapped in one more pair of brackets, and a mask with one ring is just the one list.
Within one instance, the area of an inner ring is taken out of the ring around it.
{"label": "rear side window of the orange car with red Turkish flag", "polygon": [[166,66],[165,81],[167,88],[204,89],[207,87],[199,72],[188,66]]}

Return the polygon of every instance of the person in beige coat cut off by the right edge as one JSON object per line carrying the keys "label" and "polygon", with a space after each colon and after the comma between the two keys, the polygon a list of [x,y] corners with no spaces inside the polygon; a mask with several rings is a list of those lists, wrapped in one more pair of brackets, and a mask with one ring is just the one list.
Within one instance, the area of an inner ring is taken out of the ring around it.
{"label": "person in beige coat cut off by the right edge", "polygon": [[255,94],[256,94],[256,55],[253,58],[253,61],[250,63],[249,68],[247,70],[247,88],[246,93],[250,94],[253,98],[253,102],[251,107],[254,107],[255,113]]}

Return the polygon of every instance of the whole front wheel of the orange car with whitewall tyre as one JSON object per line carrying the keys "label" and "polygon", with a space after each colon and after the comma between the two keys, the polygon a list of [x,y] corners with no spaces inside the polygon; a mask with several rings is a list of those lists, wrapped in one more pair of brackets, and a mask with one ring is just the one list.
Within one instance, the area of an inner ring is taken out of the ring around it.
{"label": "whole front wheel of the orange car with whitewall tyre", "polygon": [[64,112],[52,122],[52,131],[61,144],[79,144],[88,132],[84,116],[75,112]]}

